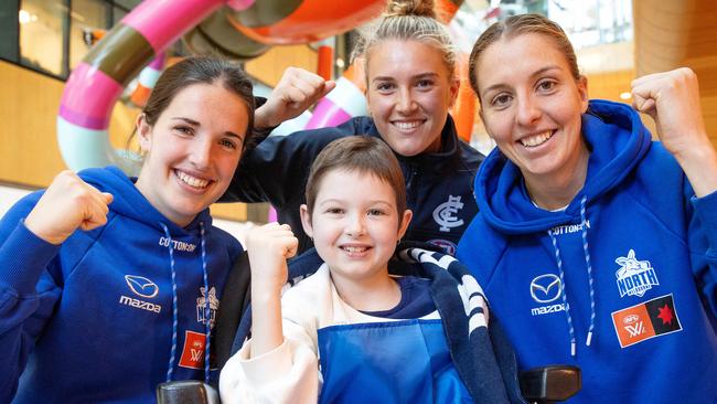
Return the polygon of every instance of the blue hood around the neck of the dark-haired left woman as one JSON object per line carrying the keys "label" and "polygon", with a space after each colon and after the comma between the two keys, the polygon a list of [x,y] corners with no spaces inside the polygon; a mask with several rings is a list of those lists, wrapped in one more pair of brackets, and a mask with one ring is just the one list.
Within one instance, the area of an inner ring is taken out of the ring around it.
{"label": "blue hood around the neck of the dark-haired left woman", "polygon": [[160,223],[165,224],[170,234],[174,236],[182,236],[188,233],[196,234],[199,232],[200,222],[202,222],[205,227],[212,225],[212,216],[210,215],[208,209],[200,212],[186,227],[181,227],[174,224],[152,206],[147,198],[139,192],[137,187],[135,187],[137,178],[127,177],[127,174],[117,167],[110,166],[106,169],[86,169],[79,171],[78,174],[85,182],[92,184],[98,190],[113,194],[114,200],[110,206],[114,212],[154,227],[162,234],[164,233],[164,228]]}

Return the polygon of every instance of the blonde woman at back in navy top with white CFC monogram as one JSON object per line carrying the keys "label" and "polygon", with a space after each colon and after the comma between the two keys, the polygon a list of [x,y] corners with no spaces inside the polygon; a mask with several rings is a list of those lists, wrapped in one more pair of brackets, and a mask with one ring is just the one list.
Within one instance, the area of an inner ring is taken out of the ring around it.
{"label": "blonde woman at back in navy top with white CFC monogram", "polygon": [[[270,202],[303,252],[313,244],[299,216],[311,163],[332,140],[365,134],[384,140],[398,157],[414,211],[406,240],[454,254],[478,212],[471,184],[483,156],[459,140],[448,114],[459,87],[457,57],[446,26],[435,17],[434,1],[388,1],[384,15],[363,32],[357,52],[370,116],[266,139],[242,160],[226,199]],[[300,70],[287,71],[281,82],[257,109],[257,127],[280,124],[287,110],[332,88]]]}

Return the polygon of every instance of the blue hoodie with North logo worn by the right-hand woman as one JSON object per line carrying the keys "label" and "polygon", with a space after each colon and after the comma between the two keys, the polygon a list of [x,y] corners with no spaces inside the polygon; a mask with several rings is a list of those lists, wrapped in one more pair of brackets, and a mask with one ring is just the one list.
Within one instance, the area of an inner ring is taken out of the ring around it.
{"label": "blue hoodie with North logo worn by the right-hand woman", "polygon": [[627,105],[590,102],[584,188],[536,208],[497,149],[458,257],[483,286],[521,369],[582,370],[582,403],[717,398],[717,192],[695,198]]}

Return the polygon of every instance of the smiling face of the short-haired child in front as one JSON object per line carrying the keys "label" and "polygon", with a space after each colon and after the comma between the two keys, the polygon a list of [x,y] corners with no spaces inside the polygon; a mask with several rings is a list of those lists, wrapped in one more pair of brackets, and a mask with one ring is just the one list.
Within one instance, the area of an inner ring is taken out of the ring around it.
{"label": "smiling face of the short-haired child in front", "polygon": [[388,276],[388,259],[411,216],[408,210],[398,213],[396,194],[386,181],[341,169],[323,177],[309,213],[302,205],[303,230],[334,281],[363,285]]}

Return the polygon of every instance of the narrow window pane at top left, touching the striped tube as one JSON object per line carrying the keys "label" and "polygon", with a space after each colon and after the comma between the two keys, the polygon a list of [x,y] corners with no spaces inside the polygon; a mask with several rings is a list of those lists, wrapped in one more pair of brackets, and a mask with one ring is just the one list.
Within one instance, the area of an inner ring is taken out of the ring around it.
{"label": "narrow window pane at top left, touching the striped tube", "polygon": [[69,68],[75,68],[93,45],[85,41],[93,35],[85,33],[107,30],[107,4],[101,0],[72,0],[69,17]]}

